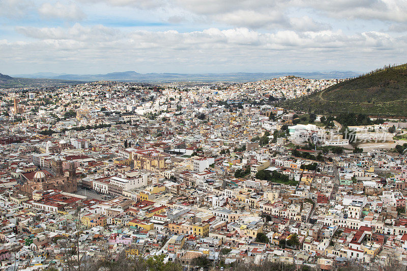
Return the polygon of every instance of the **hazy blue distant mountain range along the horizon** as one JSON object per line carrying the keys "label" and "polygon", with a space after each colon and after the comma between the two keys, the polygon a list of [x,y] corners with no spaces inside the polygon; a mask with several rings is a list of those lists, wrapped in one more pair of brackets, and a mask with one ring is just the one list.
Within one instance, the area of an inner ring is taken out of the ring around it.
{"label": "hazy blue distant mountain range along the horizon", "polygon": [[136,81],[136,82],[247,82],[261,79],[271,79],[281,76],[294,75],[309,79],[334,79],[334,78],[351,78],[356,77],[359,73],[346,71],[332,72],[286,72],[286,73],[203,73],[203,74],[182,74],[182,73],[146,73],[141,74],[134,71],[114,72],[108,74],[55,74],[55,73],[34,73],[34,74],[16,74],[14,77],[22,78],[48,78],[60,80],[80,80],[80,81],[98,81],[98,80],[115,80],[115,81]]}

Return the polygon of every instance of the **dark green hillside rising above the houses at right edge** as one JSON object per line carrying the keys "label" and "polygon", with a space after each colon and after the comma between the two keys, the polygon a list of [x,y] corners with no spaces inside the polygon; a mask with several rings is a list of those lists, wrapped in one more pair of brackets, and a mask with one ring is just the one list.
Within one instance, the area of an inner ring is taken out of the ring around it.
{"label": "dark green hillside rising above the houses at right edge", "polygon": [[281,104],[314,113],[407,116],[407,64],[373,71]]}

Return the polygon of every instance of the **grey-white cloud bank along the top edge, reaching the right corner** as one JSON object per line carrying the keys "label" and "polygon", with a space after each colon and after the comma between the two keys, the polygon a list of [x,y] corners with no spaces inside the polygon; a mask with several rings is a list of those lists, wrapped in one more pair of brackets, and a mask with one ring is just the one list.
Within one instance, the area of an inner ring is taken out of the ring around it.
{"label": "grey-white cloud bank along the top edge, reaching the right corner", "polygon": [[[97,3],[97,0],[78,0],[80,2]],[[276,14],[280,16],[292,8],[313,9],[332,18],[341,19],[366,19],[406,22],[407,21],[407,1],[405,0],[102,0],[111,6],[127,6],[138,9],[170,9],[178,8],[189,11],[193,14],[218,18],[219,21],[230,20],[236,22],[236,26],[242,26],[242,22],[234,16],[246,12],[247,14],[257,14],[258,20],[254,25],[263,26],[263,21]],[[218,16],[219,15],[219,16]],[[222,19],[223,16],[229,19]],[[245,20],[242,17],[243,21]],[[252,21],[249,20],[250,27]]]}

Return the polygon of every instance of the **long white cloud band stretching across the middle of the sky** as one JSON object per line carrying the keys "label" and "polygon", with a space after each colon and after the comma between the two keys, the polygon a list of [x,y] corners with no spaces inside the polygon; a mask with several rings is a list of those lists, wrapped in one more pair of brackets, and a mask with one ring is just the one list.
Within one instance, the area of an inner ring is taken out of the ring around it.
{"label": "long white cloud band stretching across the middle of the sky", "polygon": [[[177,31],[131,31],[124,33],[115,28],[102,25],[85,27],[75,24],[70,28],[35,28],[18,27],[17,31],[27,37],[36,38],[38,41],[24,44],[23,46],[35,47],[43,44],[46,53],[64,54],[64,51],[78,50],[78,54],[98,58],[100,55],[115,55],[118,64],[127,62],[131,55],[143,58],[160,58],[161,63],[171,63],[173,67],[175,59],[183,59],[188,55],[190,63],[202,63],[207,65],[217,63],[219,58],[241,61],[246,63],[248,57],[261,59],[268,54],[279,51],[277,58],[290,57],[295,52],[296,58],[302,59],[310,52],[325,54],[331,58],[332,50],[340,57],[363,52],[369,48],[372,51],[401,50],[406,51],[406,39],[402,36],[397,39],[381,32],[364,32],[355,35],[345,35],[342,31],[317,31],[295,32],[277,31],[276,33],[260,33],[248,28],[218,29],[208,28],[203,31],[180,33]],[[4,51],[4,50],[2,50]],[[31,51],[31,50],[27,50]],[[27,54],[27,53],[25,53]],[[202,54],[205,57],[202,58]],[[208,57],[209,56],[209,57]],[[82,56],[78,56],[78,62],[85,62]]]}

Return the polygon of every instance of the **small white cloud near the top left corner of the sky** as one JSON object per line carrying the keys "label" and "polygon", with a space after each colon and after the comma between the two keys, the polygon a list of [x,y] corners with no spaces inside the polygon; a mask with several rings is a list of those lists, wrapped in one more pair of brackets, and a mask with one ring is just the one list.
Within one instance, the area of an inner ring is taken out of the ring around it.
{"label": "small white cloud near the top left corner of the sky", "polygon": [[82,20],[85,14],[74,3],[64,5],[60,2],[55,4],[44,3],[38,9],[41,16],[46,18],[57,18],[62,20]]}

